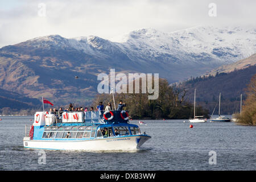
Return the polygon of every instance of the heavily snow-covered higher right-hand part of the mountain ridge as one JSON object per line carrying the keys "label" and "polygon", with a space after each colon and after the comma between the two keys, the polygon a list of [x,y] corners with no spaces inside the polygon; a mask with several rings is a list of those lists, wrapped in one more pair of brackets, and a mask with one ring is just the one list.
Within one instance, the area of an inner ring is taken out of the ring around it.
{"label": "heavily snow-covered higher right-hand part of the mountain ridge", "polygon": [[177,64],[227,64],[256,52],[256,28],[194,27],[163,33],[141,29],[123,38],[133,59]]}

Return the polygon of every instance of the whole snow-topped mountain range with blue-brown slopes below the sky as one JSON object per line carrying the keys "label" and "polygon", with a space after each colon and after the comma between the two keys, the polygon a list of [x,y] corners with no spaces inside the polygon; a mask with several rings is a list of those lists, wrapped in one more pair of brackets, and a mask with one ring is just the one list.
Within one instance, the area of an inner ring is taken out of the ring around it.
{"label": "whole snow-topped mountain range with blue-brown slopes below the sky", "polygon": [[[159,73],[171,82],[200,76],[256,52],[256,28],[193,27],[132,31],[119,42],[87,36],[43,36],[0,49],[0,85],[33,97],[67,97],[97,88],[98,73]],[[73,76],[80,77],[74,85]],[[42,96],[42,95],[41,95]]]}

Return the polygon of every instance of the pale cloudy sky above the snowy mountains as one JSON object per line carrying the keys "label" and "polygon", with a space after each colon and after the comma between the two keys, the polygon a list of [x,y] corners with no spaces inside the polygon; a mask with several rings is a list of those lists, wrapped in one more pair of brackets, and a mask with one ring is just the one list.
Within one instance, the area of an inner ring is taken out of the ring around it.
{"label": "pale cloudy sky above the snowy mountains", "polygon": [[255,7],[255,0],[0,0],[0,47],[55,34],[115,41],[140,28],[256,28]]}

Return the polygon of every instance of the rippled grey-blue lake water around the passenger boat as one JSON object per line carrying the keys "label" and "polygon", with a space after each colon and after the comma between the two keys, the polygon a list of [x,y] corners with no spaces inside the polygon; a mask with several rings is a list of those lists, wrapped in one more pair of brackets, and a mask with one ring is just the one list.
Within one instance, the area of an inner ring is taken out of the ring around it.
{"label": "rippled grey-blue lake water around the passenger boat", "polygon": [[[234,123],[191,123],[188,120],[146,120],[151,135],[134,152],[46,152],[23,148],[24,125],[32,116],[0,117],[0,170],[255,170],[256,127]],[[33,120],[34,121],[34,120]],[[183,122],[185,121],[185,123]],[[131,123],[138,124],[138,121]],[[209,164],[209,151],[216,164]]]}

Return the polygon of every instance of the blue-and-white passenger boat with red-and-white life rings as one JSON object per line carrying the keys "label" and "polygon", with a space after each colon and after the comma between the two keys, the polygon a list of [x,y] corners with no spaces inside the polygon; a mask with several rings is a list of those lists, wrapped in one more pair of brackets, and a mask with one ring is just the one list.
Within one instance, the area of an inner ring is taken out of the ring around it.
{"label": "blue-and-white passenger boat with red-and-white life rings", "polygon": [[138,125],[129,123],[127,111],[76,111],[61,116],[40,111],[35,113],[23,146],[46,150],[138,150],[150,138],[141,133]]}

